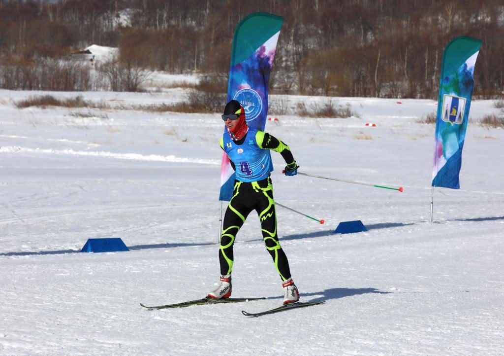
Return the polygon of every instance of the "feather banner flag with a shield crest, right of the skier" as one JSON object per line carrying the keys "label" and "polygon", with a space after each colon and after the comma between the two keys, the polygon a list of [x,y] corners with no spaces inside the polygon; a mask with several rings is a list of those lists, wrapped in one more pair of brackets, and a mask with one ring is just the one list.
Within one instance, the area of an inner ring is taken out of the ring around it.
{"label": "feather banner flag with a shield crest, right of the skier", "polygon": [[456,37],[445,48],[437,100],[432,187],[459,189],[462,148],[474,85],[479,39]]}

